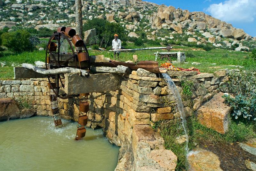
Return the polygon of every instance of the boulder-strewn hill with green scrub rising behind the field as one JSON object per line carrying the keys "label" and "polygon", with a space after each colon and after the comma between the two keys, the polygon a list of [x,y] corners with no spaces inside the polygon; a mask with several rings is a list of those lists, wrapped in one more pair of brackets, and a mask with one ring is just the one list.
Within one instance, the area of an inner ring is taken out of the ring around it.
{"label": "boulder-strewn hill with green scrub rising behind the field", "polygon": [[[128,36],[139,37],[138,32],[145,31],[151,40],[172,40],[174,34],[181,34],[188,37],[188,42],[212,43],[216,47],[237,44],[241,50],[255,45],[256,37],[204,12],[141,0],[82,0],[82,5],[84,23],[92,18],[107,19],[125,27]],[[0,29],[15,25],[37,30],[75,27],[75,0],[0,0],[0,6]]]}

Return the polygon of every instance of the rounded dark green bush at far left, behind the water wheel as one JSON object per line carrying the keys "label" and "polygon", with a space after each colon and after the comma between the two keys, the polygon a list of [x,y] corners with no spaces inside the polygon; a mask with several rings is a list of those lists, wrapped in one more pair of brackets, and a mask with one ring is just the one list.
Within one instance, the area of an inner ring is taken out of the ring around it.
{"label": "rounded dark green bush at far left, behind the water wheel", "polygon": [[31,51],[35,46],[29,41],[31,34],[27,30],[6,32],[1,35],[3,45],[10,51],[22,52]]}

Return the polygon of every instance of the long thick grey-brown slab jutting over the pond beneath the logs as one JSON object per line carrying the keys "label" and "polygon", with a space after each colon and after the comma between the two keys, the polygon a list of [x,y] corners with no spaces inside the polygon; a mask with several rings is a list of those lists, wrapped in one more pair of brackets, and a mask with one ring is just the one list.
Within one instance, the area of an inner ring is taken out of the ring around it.
{"label": "long thick grey-brown slab jutting over the pond beneath the logs", "polygon": [[81,77],[79,74],[65,74],[65,93],[115,91],[120,89],[121,78],[117,74],[93,74],[89,77]]}

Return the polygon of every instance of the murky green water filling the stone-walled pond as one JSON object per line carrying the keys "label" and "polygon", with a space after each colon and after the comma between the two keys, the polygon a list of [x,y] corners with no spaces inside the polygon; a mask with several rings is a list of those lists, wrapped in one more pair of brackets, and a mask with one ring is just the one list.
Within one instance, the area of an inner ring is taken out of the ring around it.
{"label": "murky green water filling the stone-walled pond", "polygon": [[119,147],[86,128],[75,141],[77,122],[62,120],[56,129],[51,117],[0,122],[0,170],[102,170],[113,171]]}

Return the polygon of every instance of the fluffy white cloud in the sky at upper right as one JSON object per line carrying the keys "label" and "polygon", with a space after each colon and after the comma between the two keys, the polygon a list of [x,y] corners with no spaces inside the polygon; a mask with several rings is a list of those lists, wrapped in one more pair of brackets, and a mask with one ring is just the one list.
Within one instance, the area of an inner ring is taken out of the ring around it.
{"label": "fluffy white cloud in the sky at upper right", "polygon": [[256,0],[228,0],[204,10],[226,22],[252,22],[256,17]]}

